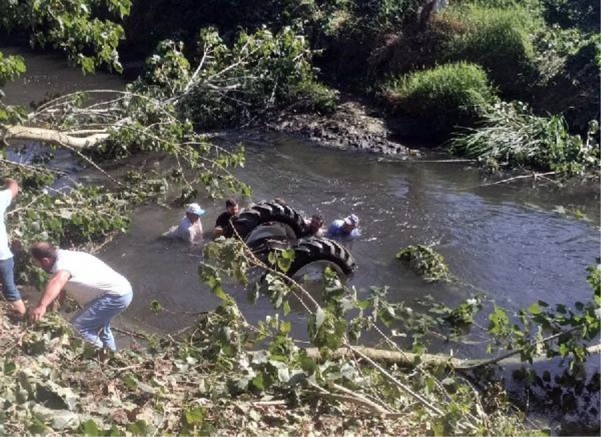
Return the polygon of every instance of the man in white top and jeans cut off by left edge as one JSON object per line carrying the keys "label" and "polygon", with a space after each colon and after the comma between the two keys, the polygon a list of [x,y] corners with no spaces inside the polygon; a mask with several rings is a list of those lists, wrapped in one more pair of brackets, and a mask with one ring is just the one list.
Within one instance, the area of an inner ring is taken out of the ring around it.
{"label": "man in white top and jeans cut off by left edge", "polygon": [[13,307],[13,311],[19,316],[25,315],[25,304],[14,284],[14,259],[13,253],[8,246],[8,235],[4,224],[6,209],[19,193],[19,185],[14,179],[4,179],[5,189],[0,191],[0,282],[2,282],[2,294]]}

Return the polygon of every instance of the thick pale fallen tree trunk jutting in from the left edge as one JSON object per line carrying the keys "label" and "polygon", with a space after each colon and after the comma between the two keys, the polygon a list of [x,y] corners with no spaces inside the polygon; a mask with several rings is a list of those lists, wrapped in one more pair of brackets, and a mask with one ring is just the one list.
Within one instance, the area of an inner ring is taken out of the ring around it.
{"label": "thick pale fallen tree trunk jutting in from the left edge", "polygon": [[[107,139],[109,134],[103,131],[92,131],[86,136],[74,136],[55,129],[29,126],[0,127],[0,137],[4,140],[31,140],[44,143],[61,144],[73,149],[90,149]],[[82,131],[81,133],[86,133]]]}

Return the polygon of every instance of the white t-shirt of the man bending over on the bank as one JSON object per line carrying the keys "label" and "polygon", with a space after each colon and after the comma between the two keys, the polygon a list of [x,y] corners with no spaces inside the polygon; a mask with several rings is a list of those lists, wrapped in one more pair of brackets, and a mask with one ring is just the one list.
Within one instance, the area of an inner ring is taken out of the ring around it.
{"label": "white t-shirt of the man bending over on the bank", "polygon": [[52,273],[61,270],[71,275],[65,289],[80,305],[105,294],[123,296],[132,292],[127,279],[89,253],[57,250]]}

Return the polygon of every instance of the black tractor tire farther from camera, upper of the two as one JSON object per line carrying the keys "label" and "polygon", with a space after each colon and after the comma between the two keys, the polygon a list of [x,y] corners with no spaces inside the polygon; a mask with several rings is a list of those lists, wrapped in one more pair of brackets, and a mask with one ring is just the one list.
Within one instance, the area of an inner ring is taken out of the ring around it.
{"label": "black tractor tire farther from camera, upper of the two", "polygon": [[244,240],[254,228],[267,222],[285,223],[290,226],[297,238],[307,234],[305,219],[294,208],[278,202],[260,202],[232,219],[236,232],[230,229],[226,237],[235,237],[237,234]]}

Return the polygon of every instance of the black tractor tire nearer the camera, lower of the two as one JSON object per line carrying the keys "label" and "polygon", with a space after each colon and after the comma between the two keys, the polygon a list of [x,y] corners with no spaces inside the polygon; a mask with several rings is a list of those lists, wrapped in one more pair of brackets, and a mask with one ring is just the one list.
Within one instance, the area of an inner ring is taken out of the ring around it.
{"label": "black tractor tire nearer the camera, lower of the two", "polygon": [[315,261],[332,262],[340,267],[344,274],[350,274],[356,268],[355,258],[346,247],[329,238],[302,238],[293,249],[294,261],[286,273],[288,276]]}

